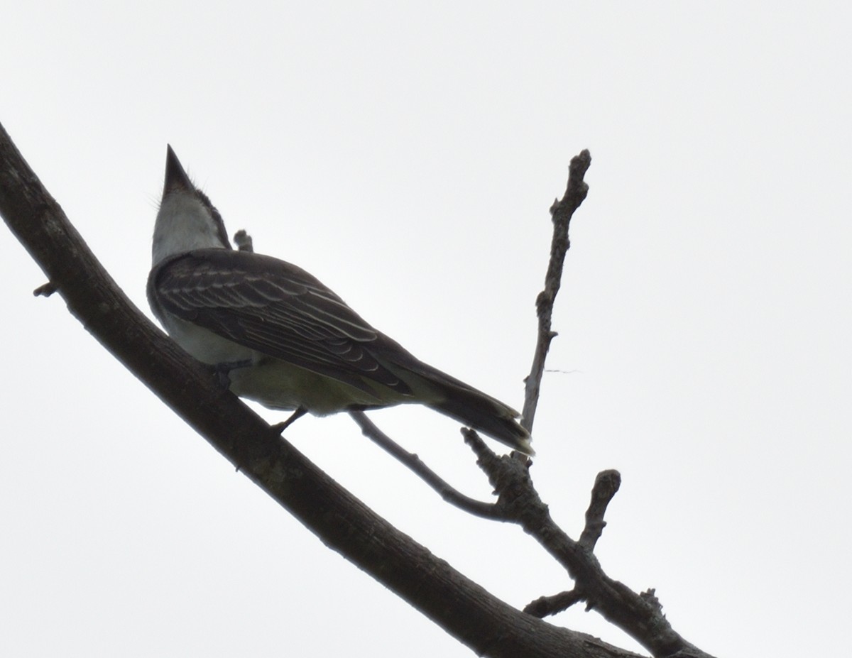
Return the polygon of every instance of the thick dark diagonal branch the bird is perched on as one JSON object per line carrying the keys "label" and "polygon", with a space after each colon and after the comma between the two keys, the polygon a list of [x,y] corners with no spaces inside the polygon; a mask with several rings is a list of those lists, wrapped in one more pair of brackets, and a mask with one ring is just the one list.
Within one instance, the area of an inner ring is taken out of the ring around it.
{"label": "thick dark diagonal branch the bird is perched on", "polygon": [[631,656],[524,615],[366,508],[216,383],[118,289],[0,126],[0,214],[83,326],[320,540],[478,655]]}

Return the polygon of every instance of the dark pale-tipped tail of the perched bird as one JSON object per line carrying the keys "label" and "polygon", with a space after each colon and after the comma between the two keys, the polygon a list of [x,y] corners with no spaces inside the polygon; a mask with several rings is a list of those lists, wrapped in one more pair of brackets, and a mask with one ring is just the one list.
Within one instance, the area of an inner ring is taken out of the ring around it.
{"label": "dark pale-tipped tail of the perched bird", "polygon": [[484,432],[520,453],[531,457],[535,454],[530,443],[530,433],[515,419],[520,415],[515,409],[464,384],[445,384],[443,388],[446,398],[443,401],[430,402],[429,408],[455,418],[474,430]]}

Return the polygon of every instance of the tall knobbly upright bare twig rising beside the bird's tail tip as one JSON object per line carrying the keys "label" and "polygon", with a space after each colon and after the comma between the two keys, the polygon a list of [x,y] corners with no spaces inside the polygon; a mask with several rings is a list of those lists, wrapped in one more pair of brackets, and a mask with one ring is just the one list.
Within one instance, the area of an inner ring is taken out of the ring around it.
{"label": "tall knobbly upright bare twig rising beside the bird's tail tip", "polygon": [[565,263],[565,255],[571,247],[568,240],[568,226],[571,217],[583,203],[589,186],[584,181],[585,172],[591,165],[591,154],[583,150],[579,155],[571,159],[568,168],[568,184],[562,200],[556,199],[550,206],[550,216],[553,220],[553,239],[550,242],[550,262],[547,266],[547,274],[544,275],[544,290],[538,293],[536,299],[536,311],[538,313],[538,340],[535,353],[533,354],[533,366],[525,380],[526,390],[524,393],[524,410],[521,424],[530,432],[533,431],[533,420],[535,419],[536,407],[538,407],[538,395],[541,390],[541,378],[544,373],[544,360],[550,349],[550,341],[556,337],[556,332],[550,328],[553,318],[553,304],[556,301],[556,293],[562,281],[562,266]]}

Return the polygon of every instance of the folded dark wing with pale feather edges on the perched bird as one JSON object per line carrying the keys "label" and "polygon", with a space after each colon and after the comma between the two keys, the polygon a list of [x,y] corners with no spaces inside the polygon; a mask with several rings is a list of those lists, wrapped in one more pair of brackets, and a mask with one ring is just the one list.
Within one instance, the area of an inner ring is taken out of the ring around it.
{"label": "folded dark wing with pale feather edges on the perched bird", "polygon": [[291,263],[250,251],[188,251],[153,268],[148,295],[154,308],[262,354],[371,395],[370,383],[412,395],[371,352],[405,350]]}

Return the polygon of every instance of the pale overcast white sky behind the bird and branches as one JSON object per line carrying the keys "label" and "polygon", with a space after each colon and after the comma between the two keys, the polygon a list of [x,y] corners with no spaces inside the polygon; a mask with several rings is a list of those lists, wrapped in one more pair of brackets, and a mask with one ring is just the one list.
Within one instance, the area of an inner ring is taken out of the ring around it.
{"label": "pale overcast white sky behind the bird and branches", "polygon": [[[533,477],[715,655],[849,644],[848,3],[17,3],[0,122],[148,315],[169,142],[263,251],[515,406],[589,148]],[[5,230],[5,229],[4,229]],[[473,655],[235,473],[0,236],[0,655]],[[264,412],[272,422],[283,414]],[[465,492],[458,425],[377,424]],[[344,416],[288,438],[509,603],[571,586]],[[596,613],[554,620],[639,650]]]}

